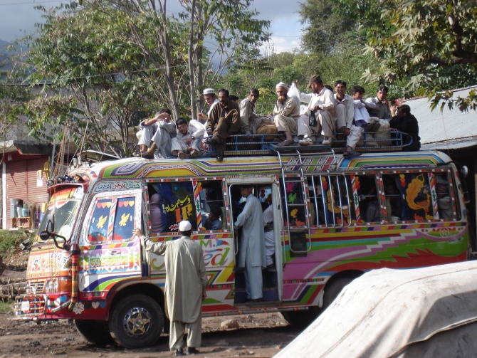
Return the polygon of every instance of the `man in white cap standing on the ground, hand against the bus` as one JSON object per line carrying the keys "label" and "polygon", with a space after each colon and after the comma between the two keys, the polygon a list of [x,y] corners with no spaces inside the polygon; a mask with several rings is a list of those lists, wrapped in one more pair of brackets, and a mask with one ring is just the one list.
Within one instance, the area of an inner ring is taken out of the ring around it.
{"label": "man in white cap standing on the ground, hand against the bus", "polygon": [[179,223],[181,238],[152,243],[140,228],[134,234],[141,238],[147,251],[164,256],[166,266],[166,315],[171,321],[169,348],[177,356],[184,355],[184,330],[187,328],[187,354],[196,354],[201,345],[202,300],[207,297],[207,276],[204,255],[199,243],[192,241],[192,225]]}

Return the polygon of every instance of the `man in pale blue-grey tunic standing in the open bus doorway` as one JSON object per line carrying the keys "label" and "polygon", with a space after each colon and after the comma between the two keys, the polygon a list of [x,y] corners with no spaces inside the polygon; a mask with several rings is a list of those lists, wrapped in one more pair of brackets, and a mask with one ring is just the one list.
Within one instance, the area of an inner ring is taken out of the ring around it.
{"label": "man in pale blue-grey tunic standing in the open bus doorway", "polygon": [[260,201],[252,194],[251,185],[240,186],[240,194],[246,199],[242,212],[234,223],[234,231],[241,227],[239,268],[245,268],[245,289],[248,302],[261,302],[262,268],[266,268],[265,232]]}

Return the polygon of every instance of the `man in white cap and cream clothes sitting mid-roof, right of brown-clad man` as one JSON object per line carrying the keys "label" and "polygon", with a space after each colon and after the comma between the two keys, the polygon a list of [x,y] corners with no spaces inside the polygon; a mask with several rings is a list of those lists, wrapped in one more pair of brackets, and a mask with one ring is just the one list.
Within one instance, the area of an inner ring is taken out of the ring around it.
{"label": "man in white cap and cream clothes sitting mid-roof, right of brown-clad man", "polygon": [[293,98],[288,95],[288,85],[281,82],[276,85],[278,99],[273,108],[273,123],[278,132],[285,134],[285,140],[278,144],[279,146],[295,145],[291,133],[298,130],[297,120],[300,117],[300,108]]}

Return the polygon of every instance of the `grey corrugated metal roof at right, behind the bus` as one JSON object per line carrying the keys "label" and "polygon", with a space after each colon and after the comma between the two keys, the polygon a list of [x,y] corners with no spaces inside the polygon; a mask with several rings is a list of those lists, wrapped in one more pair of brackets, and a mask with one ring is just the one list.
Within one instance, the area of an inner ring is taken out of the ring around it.
{"label": "grey corrugated metal roof at right, behind the bus", "polygon": [[[454,90],[454,98],[466,98],[472,89],[477,89],[477,86]],[[419,122],[421,144],[432,143],[438,146],[427,147],[426,144],[426,147],[423,145],[423,149],[456,149],[476,144],[477,112],[475,110],[461,112],[458,108],[449,110],[445,107],[442,112],[439,108],[431,112],[427,98],[407,100],[405,103],[411,107],[411,113]]]}

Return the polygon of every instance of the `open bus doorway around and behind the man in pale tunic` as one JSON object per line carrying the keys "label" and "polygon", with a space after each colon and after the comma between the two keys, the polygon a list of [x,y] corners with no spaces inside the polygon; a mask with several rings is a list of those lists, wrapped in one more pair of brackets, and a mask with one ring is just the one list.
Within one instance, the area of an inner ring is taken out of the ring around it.
{"label": "open bus doorway around and behind the man in pale tunic", "polygon": [[[241,186],[250,185],[252,194],[258,198],[263,210],[263,227],[266,246],[266,269],[262,270],[263,301],[262,304],[276,304],[282,297],[282,250],[281,250],[281,223],[279,188],[276,177],[253,179],[229,179],[229,210],[231,213],[231,228],[246,204],[241,196]],[[237,235],[234,233],[234,254],[236,262],[241,250],[241,228]],[[246,304],[247,294],[245,288],[244,268],[235,265],[235,305]]]}

